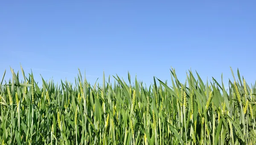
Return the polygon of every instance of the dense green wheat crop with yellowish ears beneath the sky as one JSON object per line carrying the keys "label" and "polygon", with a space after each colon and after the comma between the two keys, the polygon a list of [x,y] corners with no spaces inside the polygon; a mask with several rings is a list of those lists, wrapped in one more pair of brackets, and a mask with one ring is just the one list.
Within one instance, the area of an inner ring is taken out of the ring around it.
{"label": "dense green wheat crop with yellowish ears beneath the sky", "polygon": [[[12,70],[12,69],[11,69]],[[231,70],[232,74],[233,71]],[[12,70],[0,82],[2,145],[255,145],[255,85],[244,78],[203,83],[189,71],[184,84],[157,78],[146,88],[135,80],[90,85],[85,78],[55,85]],[[234,76],[234,75],[233,75]],[[227,91],[228,90],[228,91]]]}

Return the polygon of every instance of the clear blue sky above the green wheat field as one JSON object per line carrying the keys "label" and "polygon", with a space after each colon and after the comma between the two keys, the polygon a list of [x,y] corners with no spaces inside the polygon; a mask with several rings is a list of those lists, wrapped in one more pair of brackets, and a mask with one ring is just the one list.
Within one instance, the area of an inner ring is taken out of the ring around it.
{"label": "clear blue sky above the green wheat field", "polygon": [[[195,70],[203,79],[232,79],[239,68],[256,80],[256,1],[22,0],[0,2],[0,74],[22,64],[55,81],[73,81],[86,71],[95,82],[102,72],[147,84],[181,81]],[[232,79],[233,80],[233,79]]]}

